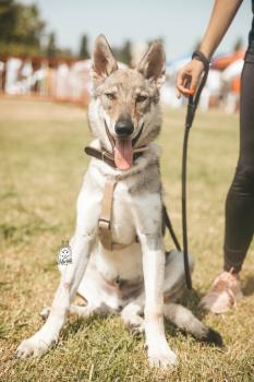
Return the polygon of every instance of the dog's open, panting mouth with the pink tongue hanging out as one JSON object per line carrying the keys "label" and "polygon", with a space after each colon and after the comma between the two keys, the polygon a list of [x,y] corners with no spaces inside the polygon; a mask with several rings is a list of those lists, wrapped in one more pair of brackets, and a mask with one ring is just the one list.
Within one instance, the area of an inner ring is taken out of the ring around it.
{"label": "dog's open, panting mouth with the pink tongue hanging out", "polygon": [[107,123],[105,123],[105,126],[106,126],[107,135],[112,145],[113,160],[114,160],[116,167],[119,170],[129,170],[133,165],[133,156],[134,156],[133,150],[138,139],[141,138],[144,123],[134,139],[130,139],[130,138],[123,139],[119,136],[112,136],[109,132]]}

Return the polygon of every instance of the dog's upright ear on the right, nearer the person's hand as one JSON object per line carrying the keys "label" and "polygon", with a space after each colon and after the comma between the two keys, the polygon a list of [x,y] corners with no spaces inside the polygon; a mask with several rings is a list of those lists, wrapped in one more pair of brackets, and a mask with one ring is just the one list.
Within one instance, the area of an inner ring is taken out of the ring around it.
{"label": "dog's upright ear on the right, nearer the person's hand", "polygon": [[166,56],[164,46],[160,41],[154,41],[141,59],[137,71],[141,72],[145,79],[155,81],[157,86],[160,87],[165,81],[165,63]]}

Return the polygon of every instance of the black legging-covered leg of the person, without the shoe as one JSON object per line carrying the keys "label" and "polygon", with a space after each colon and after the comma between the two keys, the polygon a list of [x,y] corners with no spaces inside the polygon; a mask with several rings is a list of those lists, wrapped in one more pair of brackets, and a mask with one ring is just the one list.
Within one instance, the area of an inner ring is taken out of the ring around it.
{"label": "black legging-covered leg of the person, without the shoe", "polygon": [[226,203],[225,271],[241,271],[254,230],[254,62],[245,62],[240,105],[240,157]]}

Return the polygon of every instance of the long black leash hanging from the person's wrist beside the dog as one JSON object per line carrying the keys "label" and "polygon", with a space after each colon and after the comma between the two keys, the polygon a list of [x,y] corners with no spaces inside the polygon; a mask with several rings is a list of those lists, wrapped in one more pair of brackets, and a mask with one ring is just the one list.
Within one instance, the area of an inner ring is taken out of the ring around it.
{"label": "long black leash hanging from the person's wrist beside the dog", "polygon": [[189,263],[189,243],[188,243],[188,213],[186,213],[186,172],[188,172],[188,141],[189,133],[195,117],[195,111],[199,102],[202,91],[205,86],[208,72],[209,72],[209,61],[207,58],[198,50],[194,51],[192,59],[195,58],[203,62],[204,74],[195,96],[189,97],[188,114],[185,119],[185,131],[183,139],[183,150],[182,150],[182,237],[183,237],[183,260],[184,260],[184,271],[186,278],[188,289],[192,289],[192,277]]}

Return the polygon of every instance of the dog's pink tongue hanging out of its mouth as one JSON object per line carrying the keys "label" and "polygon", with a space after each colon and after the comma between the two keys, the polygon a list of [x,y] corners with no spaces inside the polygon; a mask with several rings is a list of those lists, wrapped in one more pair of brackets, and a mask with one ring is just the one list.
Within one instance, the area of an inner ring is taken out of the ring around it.
{"label": "dog's pink tongue hanging out of its mouth", "polygon": [[131,140],[116,139],[114,164],[120,170],[128,170],[132,167],[133,151]]}

